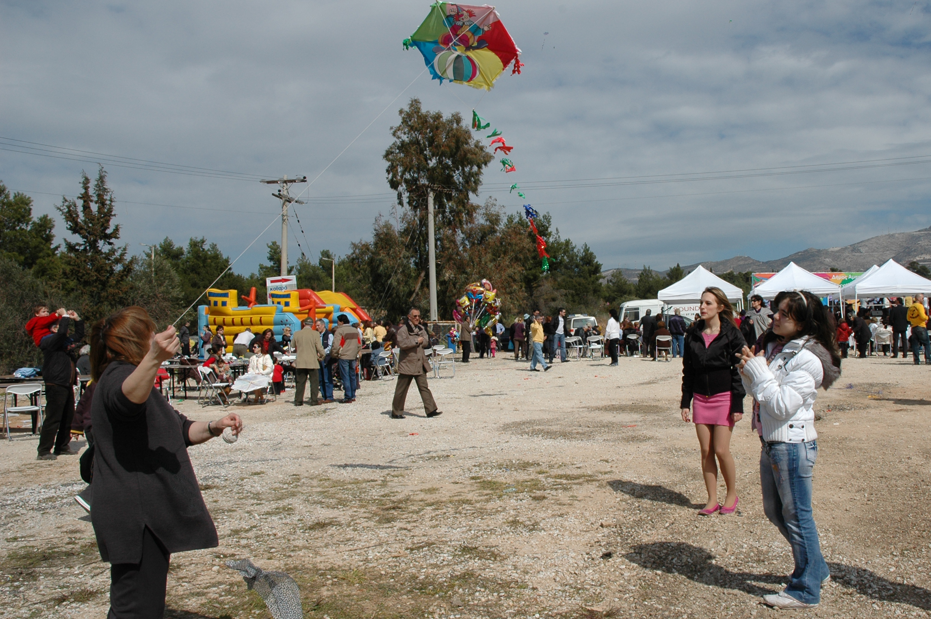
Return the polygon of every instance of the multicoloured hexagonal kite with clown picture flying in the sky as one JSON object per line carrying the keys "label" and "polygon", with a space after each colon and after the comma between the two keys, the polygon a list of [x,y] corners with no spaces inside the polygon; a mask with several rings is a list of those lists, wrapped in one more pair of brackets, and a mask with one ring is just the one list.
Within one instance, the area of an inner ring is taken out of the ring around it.
{"label": "multicoloured hexagonal kite with clown picture flying in the sky", "polygon": [[508,64],[514,63],[512,74],[519,74],[523,66],[514,39],[498,12],[487,5],[436,2],[417,32],[403,43],[405,49],[420,50],[433,79],[440,83],[448,79],[491,90]]}

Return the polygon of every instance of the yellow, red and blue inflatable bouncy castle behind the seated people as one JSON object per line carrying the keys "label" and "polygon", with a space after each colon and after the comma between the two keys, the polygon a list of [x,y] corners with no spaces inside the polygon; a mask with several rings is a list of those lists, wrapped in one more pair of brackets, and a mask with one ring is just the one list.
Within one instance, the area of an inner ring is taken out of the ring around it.
{"label": "yellow, red and blue inflatable bouncy castle behind the seated people", "polygon": [[[371,320],[358,303],[342,292],[282,290],[269,293],[270,304],[256,303],[255,294],[254,288],[248,297],[240,297],[237,290],[207,290],[207,304],[197,307],[197,334],[203,333],[204,327],[209,327],[215,334],[216,328],[223,326],[226,352],[229,353],[233,351],[233,340],[247,328],[256,335],[271,329],[275,338],[280,340],[285,327],[290,327],[291,332],[298,331],[307,316],[324,318],[328,325],[341,314],[349,317],[350,324]],[[240,300],[245,304],[240,305]],[[197,342],[200,343],[199,337]]]}

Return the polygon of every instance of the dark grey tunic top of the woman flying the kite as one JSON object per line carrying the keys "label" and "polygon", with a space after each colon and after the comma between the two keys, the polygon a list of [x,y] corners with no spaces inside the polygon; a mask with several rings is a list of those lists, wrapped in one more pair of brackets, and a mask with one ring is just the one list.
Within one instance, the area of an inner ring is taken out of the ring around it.
{"label": "dark grey tunic top of the woman flying the kite", "polygon": [[213,520],[187,453],[193,423],[155,389],[142,404],[123,395],[135,370],[113,361],[90,404],[94,428],[91,524],[101,558],[139,563],[148,527],[170,553],[217,545]]}

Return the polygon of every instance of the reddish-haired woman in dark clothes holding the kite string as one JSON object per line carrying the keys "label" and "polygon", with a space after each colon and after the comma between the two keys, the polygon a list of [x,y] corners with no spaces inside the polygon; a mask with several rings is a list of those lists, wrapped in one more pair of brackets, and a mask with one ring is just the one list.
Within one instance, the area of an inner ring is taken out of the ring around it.
{"label": "reddish-haired woman in dark clothes holding the kite string", "polygon": [[111,618],[161,618],[170,554],[218,545],[187,448],[242,420],[230,413],[192,422],[153,384],[181,342],[174,327],[155,333],[142,307],[97,323],[90,334],[90,370],[97,390],[90,521],[101,559],[110,563]]}

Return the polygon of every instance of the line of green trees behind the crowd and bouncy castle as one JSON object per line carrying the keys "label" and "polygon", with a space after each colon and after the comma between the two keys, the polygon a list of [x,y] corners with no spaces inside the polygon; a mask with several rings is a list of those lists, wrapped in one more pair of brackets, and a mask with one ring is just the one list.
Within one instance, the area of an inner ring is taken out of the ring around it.
{"label": "line of green trees behind the crowd and bouncy castle", "polygon": [[[522,212],[506,212],[494,198],[477,203],[484,169],[492,155],[475,140],[460,114],[425,111],[413,99],[399,111],[394,142],[385,151],[389,186],[397,192],[397,222],[375,219],[370,239],[352,243],[336,256],[323,249],[316,260],[302,255],[289,267],[299,288],[330,289],[335,260],[336,289],[346,292],[376,317],[393,320],[412,305],[428,307],[426,199],[434,194],[439,316],[452,316],[454,300],[469,282],[492,281],[503,300],[508,322],[515,315],[565,307],[569,312],[603,313],[630,299],[656,297],[656,291],[685,275],[678,264],[659,275],[644,266],[636,282],[620,271],[607,280],[587,246],[562,238],[548,213],[536,220],[551,256],[549,271],[540,268],[535,239]],[[84,172],[76,198],[56,207],[68,237],[56,244],[55,222],[33,216],[33,200],[10,194],[0,183],[0,373],[37,366],[41,357],[22,329],[36,303],[52,309],[65,305],[88,321],[120,307],[145,307],[161,328],[180,316],[196,322],[196,305],[214,288],[257,291],[265,298],[265,278],[279,275],[281,249],[267,245],[267,264],[250,275],[228,270],[230,258],[205,236],[186,243],[166,237],[155,255],[129,255],[115,224],[115,196],[107,173],[93,181]],[[221,274],[223,274],[221,276]],[[749,274],[723,274],[749,289]],[[191,307],[193,305],[193,307]],[[188,309],[191,307],[190,309]],[[186,312],[186,313],[185,313]]]}

